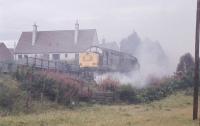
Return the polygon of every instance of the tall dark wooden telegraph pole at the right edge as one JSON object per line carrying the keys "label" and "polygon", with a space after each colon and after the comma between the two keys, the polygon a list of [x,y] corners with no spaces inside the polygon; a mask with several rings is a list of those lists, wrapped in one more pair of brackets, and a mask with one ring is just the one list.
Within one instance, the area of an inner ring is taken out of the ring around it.
{"label": "tall dark wooden telegraph pole at the right edge", "polygon": [[200,0],[197,0],[196,35],[195,35],[195,70],[194,70],[194,98],[193,120],[198,118],[198,91],[199,91],[199,26],[200,26]]}

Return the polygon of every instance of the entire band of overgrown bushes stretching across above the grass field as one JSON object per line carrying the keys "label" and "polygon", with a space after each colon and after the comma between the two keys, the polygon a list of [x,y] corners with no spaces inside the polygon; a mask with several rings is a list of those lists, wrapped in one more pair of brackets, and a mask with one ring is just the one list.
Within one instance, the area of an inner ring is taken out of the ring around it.
{"label": "entire band of overgrown bushes stretching across above the grass field", "polygon": [[113,92],[116,103],[151,103],[177,91],[190,89],[193,84],[192,64],[191,56],[184,55],[174,76],[153,78],[151,84],[142,89],[121,85],[111,77],[99,85],[85,86],[87,84],[83,81],[64,73],[18,68],[11,75],[0,76],[0,114],[30,113],[54,105],[71,107],[79,101],[90,102],[92,94],[98,90]]}

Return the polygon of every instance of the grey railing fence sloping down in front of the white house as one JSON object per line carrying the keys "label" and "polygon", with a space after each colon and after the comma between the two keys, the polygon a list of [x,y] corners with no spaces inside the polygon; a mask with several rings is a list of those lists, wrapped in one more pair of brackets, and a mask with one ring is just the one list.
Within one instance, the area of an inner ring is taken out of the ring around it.
{"label": "grey railing fence sloping down in front of the white house", "polygon": [[15,72],[18,67],[24,66],[38,70],[63,72],[82,81],[91,81],[94,78],[93,74],[89,75],[87,70],[81,69],[78,65],[35,57],[25,57],[12,62],[0,62],[0,73]]}

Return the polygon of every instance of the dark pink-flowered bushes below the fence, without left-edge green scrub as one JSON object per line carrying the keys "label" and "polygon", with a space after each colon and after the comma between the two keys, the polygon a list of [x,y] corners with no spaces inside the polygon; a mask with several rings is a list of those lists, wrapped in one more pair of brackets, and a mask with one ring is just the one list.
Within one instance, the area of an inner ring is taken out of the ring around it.
{"label": "dark pink-flowered bushes below the fence, without left-edge green scrub", "polygon": [[16,79],[22,82],[21,88],[38,100],[42,97],[62,104],[78,100],[83,82],[65,73],[19,69]]}

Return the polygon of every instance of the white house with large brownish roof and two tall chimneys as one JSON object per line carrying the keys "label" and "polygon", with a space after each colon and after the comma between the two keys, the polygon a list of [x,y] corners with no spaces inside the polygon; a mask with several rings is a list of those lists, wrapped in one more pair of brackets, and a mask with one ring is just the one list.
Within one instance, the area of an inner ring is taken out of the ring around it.
{"label": "white house with large brownish roof and two tall chimneys", "polygon": [[79,29],[76,22],[74,30],[22,32],[15,48],[15,59],[36,57],[49,60],[75,61],[79,52],[98,44],[96,29]]}

